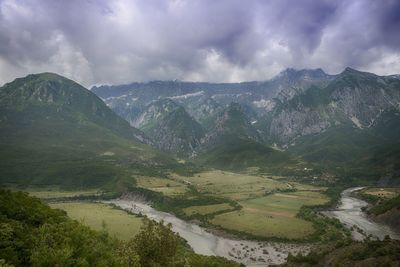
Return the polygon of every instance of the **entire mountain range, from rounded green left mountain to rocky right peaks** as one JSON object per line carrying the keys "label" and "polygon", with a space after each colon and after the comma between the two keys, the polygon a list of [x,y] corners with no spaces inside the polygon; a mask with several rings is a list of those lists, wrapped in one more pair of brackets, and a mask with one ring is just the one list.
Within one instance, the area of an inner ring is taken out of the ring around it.
{"label": "entire mountain range, from rounded green left mountain to rocky right peaks", "polygon": [[399,76],[350,68],[91,91],[43,73],[0,87],[1,184],[129,188],[198,166],[399,183],[399,137]]}

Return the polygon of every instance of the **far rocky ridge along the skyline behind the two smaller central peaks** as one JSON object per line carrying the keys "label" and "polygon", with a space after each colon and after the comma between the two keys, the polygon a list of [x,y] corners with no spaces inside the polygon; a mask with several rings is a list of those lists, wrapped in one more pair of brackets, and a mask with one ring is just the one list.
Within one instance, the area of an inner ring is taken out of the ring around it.
{"label": "far rocky ridge along the skyline behind the two smaller central peaks", "polygon": [[[121,89],[126,97],[121,97]],[[311,145],[308,141],[311,137],[315,140],[322,138],[316,143],[323,150],[335,145],[328,140],[345,143],[342,137],[323,138],[325,132],[336,136],[342,136],[341,132],[348,133],[361,139],[365,139],[361,135],[370,136],[369,143],[379,145],[383,141],[379,137],[379,129],[375,130],[374,127],[380,125],[379,128],[384,128],[380,121],[385,112],[392,113],[396,121],[396,114],[400,110],[400,82],[396,76],[379,76],[352,68],[346,68],[336,75],[326,74],[322,69],[286,69],[271,80],[260,82],[213,84],[158,81],[135,83],[133,87],[123,85],[92,90],[110,107],[114,107],[117,113],[119,108],[124,109],[124,105],[132,104],[137,108],[159,97],[176,100],[206,129],[206,137],[198,150],[200,154],[212,147],[212,142],[207,142],[207,138],[212,139],[210,136],[218,129],[218,114],[232,103],[241,107],[251,128],[260,136],[256,142],[277,145],[313,160],[318,157],[309,157],[314,152],[307,152],[305,146]],[[112,97],[118,96],[121,100],[116,101],[109,96],[114,90]],[[130,98],[135,101],[130,102]],[[200,106],[211,112],[200,112],[201,116],[196,114]],[[124,113],[120,115],[124,117]],[[240,131],[236,133],[236,137],[240,137]],[[395,138],[391,137],[390,141],[385,142],[395,143]],[[340,143],[337,145],[340,147]],[[372,147],[364,149],[357,142],[342,148],[343,151],[327,154],[333,156],[336,153],[329,162],[332,159],[339,160],[342,157],[340,155],[346,153],[364,158],[372,153]],[[347,151],[352,149],[359,152]]]}

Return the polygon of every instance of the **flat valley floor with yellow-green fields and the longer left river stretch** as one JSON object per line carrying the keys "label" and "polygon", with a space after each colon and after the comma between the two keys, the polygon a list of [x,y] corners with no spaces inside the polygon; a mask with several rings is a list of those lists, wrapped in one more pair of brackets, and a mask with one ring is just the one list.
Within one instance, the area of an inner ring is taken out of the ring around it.
{"label": "flat valley floor with yellow-green fields and the longer left river stretch", "polygon": [[[141,218],[132,213],[164,220],[172,223],[174,231],[196,253],[223,256],[247,266],[282,264],[289,254],[309,253],[319,241],[329,243],[346,238],[346,230],[340,224],[310,208],[329,203],[327,187],[287,177],[212,170],[193,176],[139,176],[136,186],[145,190],[147,197],[143,192],[133,193],[106,201],[107,204],[83,200],[65,202],[69,197],[99,196],[102,193],[99,190],[31,188],[28,192],[47,199],[53,208],[65,210],[71,218],[93,229],[107,230],[122,240],[133,237],[142,226]],[[399,193],[398,189],[374,188],[363,192],[389,199]],[[144,201],[149,197],[152,205],[164,212]],[[61,202],[52,202],[57,199]]]}

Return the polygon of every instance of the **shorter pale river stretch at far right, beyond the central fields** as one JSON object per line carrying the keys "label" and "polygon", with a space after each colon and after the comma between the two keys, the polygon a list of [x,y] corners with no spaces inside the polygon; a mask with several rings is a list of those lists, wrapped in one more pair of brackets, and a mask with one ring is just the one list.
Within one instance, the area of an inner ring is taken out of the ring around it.
{"label": "shorter pale river stretch at far right, beyond the central fields", "polygon": [[365,234],[359,233],[357,230],[352,231],[353,238],[363,240],[365,235],[372,235],[375,238],[383,239],[389,235],[392,239],[400,239],[400,235],[393,231],[390,227],[374,222],[367,217],[362,211],[363,207],[368,206],[368,203],[352,197],[352,193],[363,189],[363,187],[348,188],[341,193],[339,206],[332,211],[324,212],[325,215],[337,218],[349,229],[354,226],[362,229]]}

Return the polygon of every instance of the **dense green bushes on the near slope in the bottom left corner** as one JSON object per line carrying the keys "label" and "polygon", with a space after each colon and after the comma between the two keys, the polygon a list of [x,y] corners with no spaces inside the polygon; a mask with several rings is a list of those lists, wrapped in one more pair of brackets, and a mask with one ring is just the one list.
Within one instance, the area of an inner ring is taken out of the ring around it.
{"label": "dense green bushes on the near slope in the bottom left corner", "polygon": [[14,266],[236,266],[194,254],[164,226],[144,220],[128,242],[73,221],[27,193],[0,190],[0,262]]}

